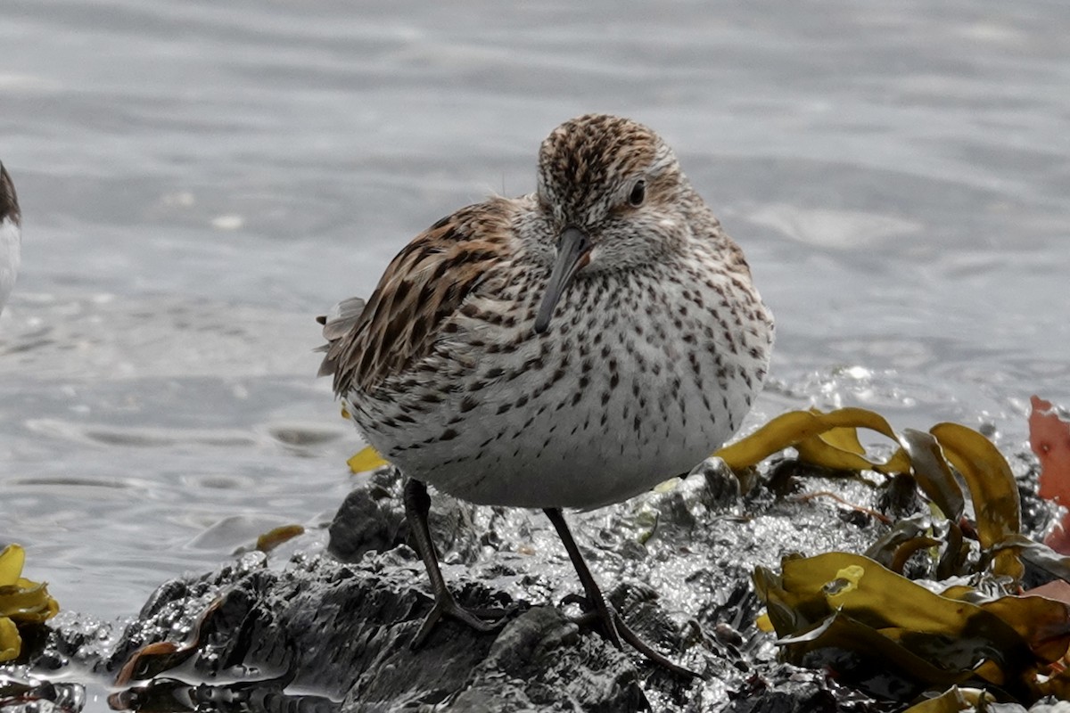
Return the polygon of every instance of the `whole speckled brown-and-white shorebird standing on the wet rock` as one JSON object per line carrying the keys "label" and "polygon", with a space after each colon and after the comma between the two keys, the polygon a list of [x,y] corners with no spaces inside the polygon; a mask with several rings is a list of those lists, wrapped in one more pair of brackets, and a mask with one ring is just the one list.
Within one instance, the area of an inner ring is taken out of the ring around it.
{"label": "whole speckled brown-and-white shorebird standing on the wet rock", "polygon": [[366,300],[318,320],[320,375],[404,477],[434,592],[413,646],[443,617],[502,625],[449,592],[427,525],[431,485],[542,510],[583,586],[583,617],[617,648],[693,675],[606,602],[563,514],[691,471],[739,428],[768,372],[773,314],[658,134],[611,114],[564,122],[539,146],[533,192],[442,218]]}

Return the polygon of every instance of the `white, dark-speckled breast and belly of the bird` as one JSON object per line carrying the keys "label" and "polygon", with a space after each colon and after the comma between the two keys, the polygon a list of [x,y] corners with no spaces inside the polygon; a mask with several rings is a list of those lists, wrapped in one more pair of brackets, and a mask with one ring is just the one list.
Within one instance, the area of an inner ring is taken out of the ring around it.
{"label": "white, dark-speckled breast and belly of the bird", "polygon": [[747,300],[721,305],[690,282],[578,280],[535,335],[538,297],[475,297],[421,365],[350,393],[371,445],[475,502],[595,507],[690,470],[761,386],[771,332]]}

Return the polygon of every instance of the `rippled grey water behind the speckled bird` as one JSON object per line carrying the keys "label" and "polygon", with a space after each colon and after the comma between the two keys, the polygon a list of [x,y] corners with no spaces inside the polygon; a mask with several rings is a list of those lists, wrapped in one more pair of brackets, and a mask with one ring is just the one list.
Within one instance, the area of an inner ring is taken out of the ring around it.
{"label": "rippled grey water behind the speckled bird", "polygon": [[534,186],[561,121],[657,128],[778,319],[769,416],[1025,435],[1070,404],[1059,2],[7,0],[0,541],[61,606],[324,522],[357,441],[311,321],[415,233]]}

